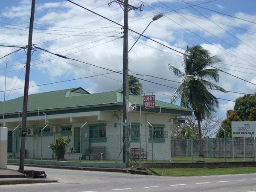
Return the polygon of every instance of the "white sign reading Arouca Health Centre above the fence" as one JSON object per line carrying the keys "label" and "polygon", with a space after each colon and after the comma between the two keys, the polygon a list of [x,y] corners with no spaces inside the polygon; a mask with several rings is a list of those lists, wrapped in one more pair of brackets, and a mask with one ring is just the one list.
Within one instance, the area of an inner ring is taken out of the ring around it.
{"label": "white sign reading Arouca Health Centre above the fence", "polygon": [[232,137],[251,137],[251,133],[246,129],[252,132],[252,136],[255,137],[256,133],[256,122],[255,121],[232,121]]}

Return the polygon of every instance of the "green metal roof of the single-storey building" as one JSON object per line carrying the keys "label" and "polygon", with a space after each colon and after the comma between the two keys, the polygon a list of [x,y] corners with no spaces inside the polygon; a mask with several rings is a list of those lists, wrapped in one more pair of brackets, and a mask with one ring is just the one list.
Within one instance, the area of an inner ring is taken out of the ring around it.
{"label": "green metal roof of the single-storey building", "polygon": [[[56,90],[45,93],[31,94],[28,97],[28,111],[37,111],[60,108],[73,108],[91,105],[107,105],[122,103],[122,90],[115,90],[103,93],[77,93],[81,87],[72,89]],[[81,88],[82,89],[82,88]],[[82,89],[84,90],[84,89]],[[129,102],[132,104],[140,104],[140,96],[129,95]],[[163,108],[173,108],[177,110],[186,110],[177,105],[156,100],[156,106]],[[23,96],[11,99],[5,103],[5,113],[22,112]],[[3,102],[0,102],[0,114],[3,113]]]}

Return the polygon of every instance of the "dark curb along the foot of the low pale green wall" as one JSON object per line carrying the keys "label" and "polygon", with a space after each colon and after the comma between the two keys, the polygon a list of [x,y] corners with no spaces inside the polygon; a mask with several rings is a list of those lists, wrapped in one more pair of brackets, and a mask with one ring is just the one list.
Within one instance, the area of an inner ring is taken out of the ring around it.
{"label": "dark curb along the foot of the low pale green wall", "polygon": [[[19,165],[17,163],[8,163],[8,165]],[[84,170],[84,171],[97,171],[97,172],[122,172],[137,175],[151,175],[148,172],[132,169],[116,169],[116,168],[104,168],[104,167],[78,167],[78,166],[53,166],[53,165],[38,165],[38,164],[25,164],[25,166],[44,167],[52,169],[72,169],[72,170]]]}

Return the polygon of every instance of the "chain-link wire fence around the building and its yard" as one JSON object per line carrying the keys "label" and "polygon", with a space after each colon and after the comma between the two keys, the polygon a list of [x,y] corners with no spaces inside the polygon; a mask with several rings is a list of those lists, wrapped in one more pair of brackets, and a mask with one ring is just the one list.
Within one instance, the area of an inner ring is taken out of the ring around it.
{"label": "chain-link wire fence around the building and its yard", "polygon": [[[67,137],[67,136],[66,136]],[[29,159],[55,159],[55,155],[48,148],[55,138],[28,137],[26,138],[26,158]],[[109,162],[123,162],[123,138],[122,135],[107,135],[105,138],[93,138],[82,140],[85,145],[82,153],[66,155],[68,160],[85,159],[85,150],[88,147],[104,147],[102,156],[92,155],[90,160]],[[14,157],[19,157],[20,137],[17,137]],[[42,143],[42,145],[41,145]],[[77,141],[70,143],[75,146]],[[79,143],[79,142],[78,142]],[[79,143],[80,145],[80,143]],[[255,161],[256,145],[255,137],[235,138],[204,138],[204,139],[175,139],[171,137],[140,136],[131,137],[125,141],[126,157],[134,163],[168,162],[168,163],[196,163],[196,162],[232,162],[232,161]],[[42,151],[42,153],[41,153]],[[97,153],[97,152],[95,152]],[[98,152],[99,153],[99,152]],[[88,158],[87,158],[88,159]]]}

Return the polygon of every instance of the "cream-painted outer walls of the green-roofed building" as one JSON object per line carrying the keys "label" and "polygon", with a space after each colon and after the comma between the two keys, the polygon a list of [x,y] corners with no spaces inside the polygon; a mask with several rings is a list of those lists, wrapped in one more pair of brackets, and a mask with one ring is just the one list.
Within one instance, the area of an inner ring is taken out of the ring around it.
{"label": "cream-painted outer walls of the green-roofed building", "polygon": [[[81,127],[84,122],[87,121],[87,125],[90,123],[106,123],[106,143],[90,143],[90,146],[105,146],[105,159],[116,160],[120,150],[122,149],[122,126],[119,126],[118,123],[122,122],[122,113],[116,111],[119,116],[119,119],[113,118],[114,112],[102,113],[100,119],[109,119],[109,121],[98,121],[94,117],[84,117],[83,119],[79,119],[80,122],[69,122],[67,119],[62,119],[59,121],[61,125],[71,125],[72,131],[72,141],[70,143],[71,147],[73,147],[74,140],[74,128]],[[111,115],[110,115],[111,114]],[[137,111],[133,111],[129,113],[130,122],[140,122],[140,113]],[[145,151],[148,151],[148,160],[152,158],[152,143],[148,143],[149,138],[149,126],[146,120],[151,124],[164,124],[166,127],[164,131],[168,132],[168,138],[164,140],[164,143],[154,143],[154,160],[169,160],[170,159],[170,130],[173,129],[172,121],[169,122],[171,118],[174,116],[170,116],[164,113],[142,113],[142,126],[140,130],[141,134],[141,143],[131,143],[131,147],[144,148]],[[117,127],[114,127],[114,125]],[[40,122],[41,125],[37,125],[38,127],[44,126],[44,121]],[[13,128],[9,128],[9,131],[13,130]],[[19,129],[20,130],[20,129]],[[19,131],[18,130],[18,131]],[[50,143],[55,142],[55,139],[60,136],[60,133],[55,133],[54,136],[51,137],[43,137],[43,158],[52,158],[52,151],[47,148]],[[80,139],[80,138],[76,138]],[[20,137],[18,137],[17,141],[17,154],[15,157],[19,157],[19,148],[20,148]],[[38,137],[35,134],[33,137],[26,137],[26,150],[28,158],[41,158],[41,137]],[[119,157],[119,160],[122,160],[122,153]]]}

